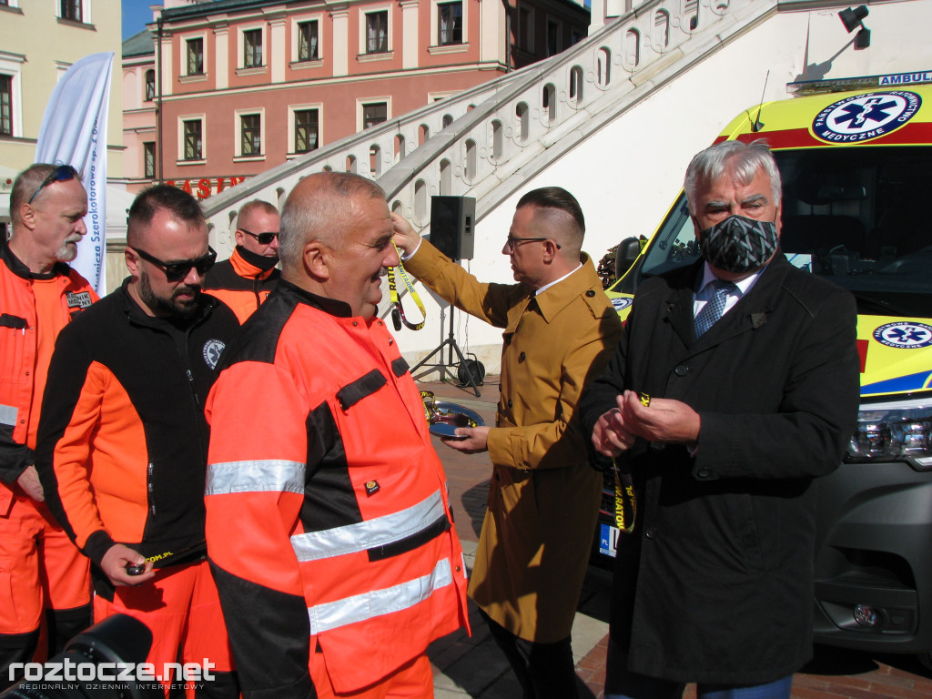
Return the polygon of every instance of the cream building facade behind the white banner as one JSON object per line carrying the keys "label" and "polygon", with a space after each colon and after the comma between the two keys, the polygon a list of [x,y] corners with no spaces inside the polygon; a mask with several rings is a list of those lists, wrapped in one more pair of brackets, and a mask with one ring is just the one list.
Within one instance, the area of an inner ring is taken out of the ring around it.
{"label": "cream building facade behind the white banner", "polygon": [[[0,226],[17,172],[34,162],[46,104],[65,71],[90,53],[120,55],[119,0],[0,0]],[[118,59],[115,58],[115,61]],[[120,82],[111,81],[107,174],[123,174]]]}

